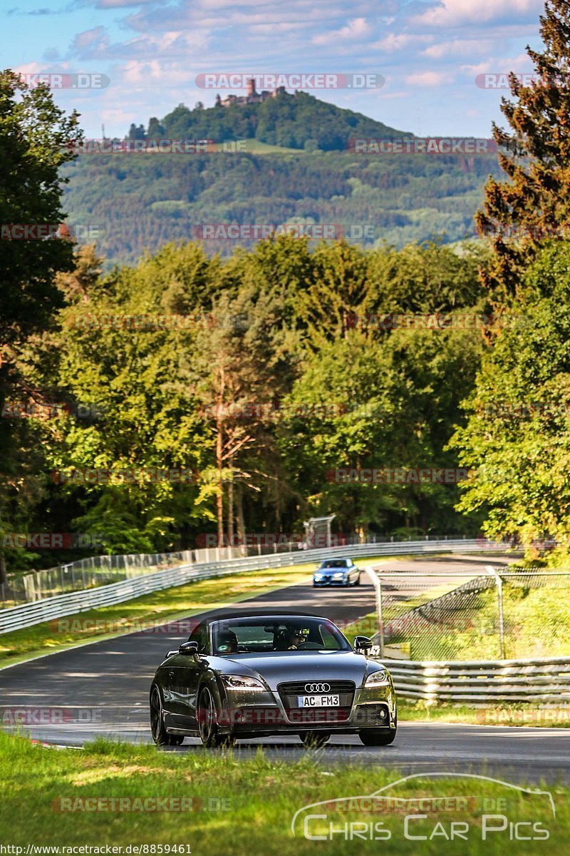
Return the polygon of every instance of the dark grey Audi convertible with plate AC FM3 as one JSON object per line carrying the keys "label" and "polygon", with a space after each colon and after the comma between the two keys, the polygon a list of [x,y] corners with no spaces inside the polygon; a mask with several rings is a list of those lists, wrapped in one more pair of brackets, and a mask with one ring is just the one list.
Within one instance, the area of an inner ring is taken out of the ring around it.
{"label": "dark grey Audi convertible with plate AC FM3", "polygon": [[168,651],[150,687],[155,743],[185,736],[204,746],[298,734],[322,746],[331,734],[358,734],[365,746],[396,737],[391,675],[327,618],[300,613],[212,615],[177,651]]}

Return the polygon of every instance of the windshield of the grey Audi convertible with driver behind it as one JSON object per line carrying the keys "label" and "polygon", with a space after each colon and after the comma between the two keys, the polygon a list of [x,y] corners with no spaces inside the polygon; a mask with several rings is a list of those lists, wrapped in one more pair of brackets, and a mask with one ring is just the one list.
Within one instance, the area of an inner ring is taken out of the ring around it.
{"label": "windshield of the grey Audi convertible with driver behind it", "polygon": [[314,618],[240,618],[213,626],[215,654],[273,654],[275,651],[350,651],[331,621]]}

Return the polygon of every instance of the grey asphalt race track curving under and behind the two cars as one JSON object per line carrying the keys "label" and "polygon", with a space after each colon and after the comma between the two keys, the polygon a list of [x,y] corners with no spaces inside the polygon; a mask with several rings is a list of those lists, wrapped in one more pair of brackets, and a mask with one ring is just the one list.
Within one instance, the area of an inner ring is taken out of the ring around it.
{"label": "grey asphalt race track curving under and behind the two cars", "polygon": [[[424,574],[449,574],[477,570],[485,564],[504,565],[507,559],[488,556],[439,556],[429,559],[383,562],[385,573],[408,571],[410,580],[385,580],[391,597],[405,599],[416,591],[441,584]],[[458,578],[457,583],[464,581]],[[236,604],[242,611],[252,607],[306,609],[333,621],[353,621],[374,609],[373,586],[350,590],[290,586]],[[21,730],[35,740],[65,746],[81,746],[97,736],[134,742],[150,742],[148,693],[156,666],[170,649],[188,638],[179,625],[156,627],[90,645],[39,657],[0,671],[0,705],[4,711],[32,711]],[[5,721],[5,720],[4,720]],[[248,758],[262,744],[269,757],[301,758],[306,750],[298,738],[263,738],[238,743],[241,757]],[[183,746],[167,752],[204,752],[199,740],[186,738]],[[322,764],[362,762],[382,764],[403,775],[450,770],[502,776],[508,781],[570,783],[570,731],[563,728],[507,728],[401,722],[392,746],[362,746],[356,736],[332,738],[316,753]]]}

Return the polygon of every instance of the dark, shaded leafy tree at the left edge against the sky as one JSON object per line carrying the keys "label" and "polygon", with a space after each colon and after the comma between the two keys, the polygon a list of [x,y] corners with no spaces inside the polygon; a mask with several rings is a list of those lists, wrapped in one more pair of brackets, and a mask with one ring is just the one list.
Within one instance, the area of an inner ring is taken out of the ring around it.
{"label": "dark, shaded leafy tree at the left edge against the sky", "polygon": [[[0,228],[5,232],[0,288],[1,408],[7,401],[21,397],[27,401],[30,395],[39,394],[37,383],[26,377],[21,357],[34,336],[55,329],[56,311],[63,305],[55,278],[58,271],[72,267],[73,244],[56,237],[65,218],[58,170],[73,159],[72,147],[80,137],[77,114],[66,116],[56,107],[48,86],[30,89],[13,72],[0,74]],[[15,226],[28,227],[30,240],[14,240]],[[38,240],[39,228],[48,229],[48,240]],[[32,437],[29,426],[22,422],[0,419],[0,527],[21,520],[22,502],[31,505],[41,496],[37,456],[34,474],[28,455]],[[0,545],[0,582],[4,578]]]}

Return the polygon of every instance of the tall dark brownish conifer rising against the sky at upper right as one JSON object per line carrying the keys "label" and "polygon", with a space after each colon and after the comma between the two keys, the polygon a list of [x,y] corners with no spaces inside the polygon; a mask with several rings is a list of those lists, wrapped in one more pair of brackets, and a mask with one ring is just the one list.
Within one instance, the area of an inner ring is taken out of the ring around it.
{"label": "tall dark brownish conifer rising against the sky at upper right", "polygon": [[526,51],[538,80],[522,86],[501,110],[512,131],[493,123],[506,181],[490,178],[476,222],[491,235],[491,266],[482,273],[494,306],[520,298],[521,274],[545,240],[567,236],[570,226],[570,2],[546,0],[540,16],[544,51]]}

